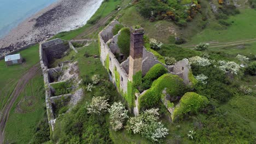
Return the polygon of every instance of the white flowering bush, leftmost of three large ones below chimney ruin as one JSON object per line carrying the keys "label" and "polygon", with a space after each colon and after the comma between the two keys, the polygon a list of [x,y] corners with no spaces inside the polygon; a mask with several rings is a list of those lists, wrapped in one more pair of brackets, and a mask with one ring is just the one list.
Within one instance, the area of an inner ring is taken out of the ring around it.
{"label": "white flowering bush, leftmost of three large ones below chimney ruin", "polygon": [[100,114],[108,109],[108,99],[105,97],[93,97],[91,104],[88,106],[88,113]]}

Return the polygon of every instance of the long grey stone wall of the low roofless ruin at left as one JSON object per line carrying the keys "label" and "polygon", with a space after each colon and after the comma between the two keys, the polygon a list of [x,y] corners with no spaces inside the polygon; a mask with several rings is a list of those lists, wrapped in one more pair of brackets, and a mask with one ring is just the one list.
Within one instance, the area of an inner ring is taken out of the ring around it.
{"label": "long grey stone wall of the low roofless ruin at left", "polygon": [[[43,71],[44,86],[45,86],[46,111],[47,111],[48,122],[49,122],[51,131],[54,131],[54,124],[56,120],[56,117],[54,115],[54,110],[53,110],[54,101],[62,97],[64,98],[72,97],[72,94],[69,93],[65,95],[58,95],[56,97],[53,96],[50,84],[54,82],[53,79],[56,79],[55,74],[61,71],[61,67],[48,69],[48,64],[49,64],[49,61],[53,60],[53,58],[61,58],[68,49],[71,49],[68,43],[61,39],[50,40],[39,45],[40,65]],[[63,82],[63,81],[59,81],[59,82]]]}

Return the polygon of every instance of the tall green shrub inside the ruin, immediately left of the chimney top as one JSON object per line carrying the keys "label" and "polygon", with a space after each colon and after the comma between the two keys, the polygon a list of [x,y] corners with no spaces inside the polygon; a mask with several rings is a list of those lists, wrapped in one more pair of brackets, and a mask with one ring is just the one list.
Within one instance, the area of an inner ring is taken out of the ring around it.
{"label": "tall green shrub inside the ruin, immediately left of the chimney top", "polygon": [[121,29],[121,33],[118,37],[118,47],[127,58],[130,55],[130,29],[125,27]]}

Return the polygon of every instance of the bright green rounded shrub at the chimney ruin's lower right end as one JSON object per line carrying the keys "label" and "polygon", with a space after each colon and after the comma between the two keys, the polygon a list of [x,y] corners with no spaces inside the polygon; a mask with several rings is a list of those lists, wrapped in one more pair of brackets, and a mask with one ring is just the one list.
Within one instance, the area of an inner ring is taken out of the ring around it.
{"label": "bright green rounded shrub at the chimney ruin's lower right end", "polygon": [[172,120],[182,119],[187,113],[197,113],[207,106],[209,103],[205,96],[194,92],[188,92],[183,95],[179,106],[175,108],[172,115]]}

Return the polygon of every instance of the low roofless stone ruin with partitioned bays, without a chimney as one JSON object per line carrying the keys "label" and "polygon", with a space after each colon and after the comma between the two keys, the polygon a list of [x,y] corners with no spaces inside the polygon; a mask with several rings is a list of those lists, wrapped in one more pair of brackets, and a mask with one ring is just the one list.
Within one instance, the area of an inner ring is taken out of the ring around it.
{"label": "low roofless stone ruin with partitioned bays, without a chimney", "polygon": [[[65,53],[71,50],[77,52],[70,41],[61,39],[46,41],[39,45],[40,65],[45,85],[46,111],[52,131],[54,131],[55,120],[58,116],[56,111],[60,109],[56,103],[68,105],[71,109],[83,96],[83,89],[78,88],[81,82],[79,80],[78,63],[64,61],[55,65],[52,64],[56,59],[62,58]],[[63,86],[65,93],[56,93],[57,89],[54,86]]]}

